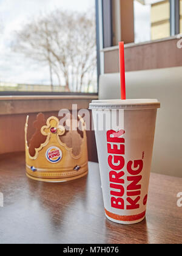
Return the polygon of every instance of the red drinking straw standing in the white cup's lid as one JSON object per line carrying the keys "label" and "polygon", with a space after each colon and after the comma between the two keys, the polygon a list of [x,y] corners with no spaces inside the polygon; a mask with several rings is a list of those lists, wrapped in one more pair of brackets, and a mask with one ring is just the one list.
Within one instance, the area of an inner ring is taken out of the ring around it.
{"label": "red drinking straw standing in the white cup's lid", "polygon": [[119,43],[120,48],[120,76],[121,76],[121,99],[126,99],[125,65],[124,65],[124,42]]}

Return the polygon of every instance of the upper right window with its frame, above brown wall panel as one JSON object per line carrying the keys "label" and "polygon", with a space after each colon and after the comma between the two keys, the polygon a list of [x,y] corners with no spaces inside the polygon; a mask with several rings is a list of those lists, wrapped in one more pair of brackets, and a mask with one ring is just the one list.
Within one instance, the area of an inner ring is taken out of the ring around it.
{"label": "upper right window with its frame, above brown wall panel", "polygon": [[[100,1],[104,2],[103,7],[107,5],[107,9],[103,9],[104,27],[110,31],[112,24],[112,31],[105,33],[105,29],[103,33],[107,39],[105,47],[118,45],[120,40],[125,43],[160,40],[182,31],[182,0]],[[106,10],[109,11],[106,13]]]}

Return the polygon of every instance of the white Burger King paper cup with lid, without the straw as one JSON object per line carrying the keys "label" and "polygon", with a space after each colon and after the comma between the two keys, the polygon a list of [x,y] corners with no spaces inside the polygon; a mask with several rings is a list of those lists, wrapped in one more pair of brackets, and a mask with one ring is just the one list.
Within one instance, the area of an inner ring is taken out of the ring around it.
{"label": "white Burger King paper cup with lid, without the straw", "polygon": [[160,102],[155,99],[90,104],[110,221],[135,224],[146,216],[157,108]]}

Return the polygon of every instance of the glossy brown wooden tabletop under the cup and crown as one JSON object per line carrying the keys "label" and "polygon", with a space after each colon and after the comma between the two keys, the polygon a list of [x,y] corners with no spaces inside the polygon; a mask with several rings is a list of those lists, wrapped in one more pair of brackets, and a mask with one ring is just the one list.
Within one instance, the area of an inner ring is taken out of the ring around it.
{"label": "glossy brown wooden tabletop under the cup and crown", "polygon": [[0,156],[0,243],[182,243],[182,179],[151,174],[147,218],[123,226],[107,220],[99,168],[69,183],[25,176],[24,154]]}

